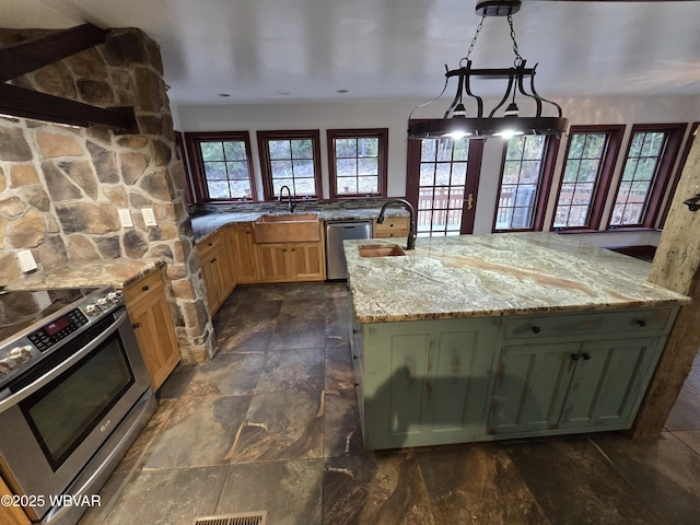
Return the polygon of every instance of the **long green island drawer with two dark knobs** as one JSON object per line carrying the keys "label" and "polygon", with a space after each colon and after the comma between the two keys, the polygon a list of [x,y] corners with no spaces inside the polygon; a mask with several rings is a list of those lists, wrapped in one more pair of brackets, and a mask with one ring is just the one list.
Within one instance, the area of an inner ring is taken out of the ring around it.
{"label": "long green island drawer with two dark knobs", "polygon": [[674,308],[600,312],[590,314],[527,316],[505,322],[506,339],[565,336],[595,336],[597,334],[633,334],[670,329]]}

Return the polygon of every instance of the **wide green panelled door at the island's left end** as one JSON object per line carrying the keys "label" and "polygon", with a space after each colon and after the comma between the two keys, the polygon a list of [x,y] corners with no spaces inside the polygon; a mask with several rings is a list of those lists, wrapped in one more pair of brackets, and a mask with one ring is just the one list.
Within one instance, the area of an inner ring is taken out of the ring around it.
{"label": "wide green panelled door at the island's left end", "polygon": [[364,328],[365,445],[395,448],[482,439],[497,334],[492,323],[460,319]]}

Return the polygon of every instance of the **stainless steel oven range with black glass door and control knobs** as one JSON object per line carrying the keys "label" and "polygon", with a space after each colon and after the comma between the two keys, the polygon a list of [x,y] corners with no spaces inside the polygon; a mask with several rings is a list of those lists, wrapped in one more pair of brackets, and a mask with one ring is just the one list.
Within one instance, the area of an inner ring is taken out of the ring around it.
{"label": "stainless steel oven range with black glass door and control knobs", "polygon": [[9,295],[0,320],[22,295],[30,320],[0,343],[0,471],[33,522],[73,525],[156,401],[120,292]]}

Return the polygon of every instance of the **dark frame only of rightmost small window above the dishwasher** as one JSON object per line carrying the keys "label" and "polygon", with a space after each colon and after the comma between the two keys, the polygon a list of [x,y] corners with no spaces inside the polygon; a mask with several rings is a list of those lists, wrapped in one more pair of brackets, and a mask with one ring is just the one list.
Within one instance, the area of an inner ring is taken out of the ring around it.
{"label": "dark frame only of rightmost small window above the dishwasher", "polygon": [[[376,194],[338,194],[337,172],[336,172],[336,149],[335,139],[380,139],[380,151],[377,159],[378,191]],[[328,184],[331,199],[382,199],[386,198],[386,187],[388,184],[388,150],[389,129],[388,128],[359,128],[359,129],[327,129],[326,141],[328,148]]]}

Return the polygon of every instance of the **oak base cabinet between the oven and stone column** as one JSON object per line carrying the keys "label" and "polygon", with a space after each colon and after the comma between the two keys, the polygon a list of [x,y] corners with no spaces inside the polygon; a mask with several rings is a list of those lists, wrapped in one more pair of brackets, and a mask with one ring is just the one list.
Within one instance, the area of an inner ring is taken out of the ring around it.
{"label": "oak base cabinet between the oven and stone column", "polygon": [[124,299],[153,390],[179,363],[180,353],[160,271],[124,289]]}

